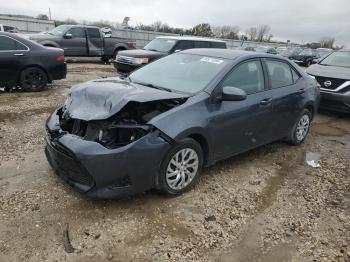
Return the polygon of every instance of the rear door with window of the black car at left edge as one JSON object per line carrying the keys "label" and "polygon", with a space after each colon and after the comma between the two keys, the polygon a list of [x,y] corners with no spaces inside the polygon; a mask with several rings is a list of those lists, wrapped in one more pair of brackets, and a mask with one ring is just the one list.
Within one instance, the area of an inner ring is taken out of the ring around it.
{"label": "rear door with window of the black car at left edge", "polygon": [[17,82],[28,51],[26,46],[15,39],[0,36],[0,86],[13,85]]}

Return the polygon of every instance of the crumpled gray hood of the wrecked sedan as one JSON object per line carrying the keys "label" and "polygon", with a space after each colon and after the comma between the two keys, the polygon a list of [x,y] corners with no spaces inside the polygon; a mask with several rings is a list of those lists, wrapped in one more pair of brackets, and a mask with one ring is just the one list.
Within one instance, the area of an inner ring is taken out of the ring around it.
{"label": "crumpled gray hood of the wrecked sedan", "polygon": [[186,98],[188,95],[171,93],[120,78],[105,78],[73,86],[64,105],[64,114],[71,118],[101,120],[118,113],[128,102],[150,102]]}

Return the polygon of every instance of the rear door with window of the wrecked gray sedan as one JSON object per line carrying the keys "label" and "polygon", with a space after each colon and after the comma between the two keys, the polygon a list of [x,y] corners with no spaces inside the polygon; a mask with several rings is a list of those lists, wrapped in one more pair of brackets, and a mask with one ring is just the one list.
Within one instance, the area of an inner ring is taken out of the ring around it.
{"label": "rear door with window of the wrecked gray sedan", "polygon": [[286,135],[293,127],[303,105],[305,82],[297,70],[280,59],[264,59],[273,90],[271,137]]}

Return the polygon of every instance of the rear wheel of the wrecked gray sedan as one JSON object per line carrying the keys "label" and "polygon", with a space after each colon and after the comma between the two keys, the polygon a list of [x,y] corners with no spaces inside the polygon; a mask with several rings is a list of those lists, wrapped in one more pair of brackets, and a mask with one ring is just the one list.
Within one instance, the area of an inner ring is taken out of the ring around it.
{"label": "rear wheel of the wrecked gray sedan", "polygon": [[302,144],[310,130],[312,114],[308,109],[304,109],[298,117],[298,120],[293,126],[293,129],[287,138],[287,141],[292,145]]}

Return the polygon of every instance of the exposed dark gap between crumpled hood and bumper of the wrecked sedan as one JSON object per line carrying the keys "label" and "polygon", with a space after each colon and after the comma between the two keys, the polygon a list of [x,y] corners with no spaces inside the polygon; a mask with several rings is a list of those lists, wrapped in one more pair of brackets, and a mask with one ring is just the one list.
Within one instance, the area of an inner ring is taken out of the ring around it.
{"label": "exposed dark gap between crumpled hood and bumper of the wrecked sedan", "polygon": [[170,99],[145,103],[129,102],[117,114],[104,120],[74,119],[64,107],[57,111],[57,115],[63,132],[114,149],[128,145],[154,131],[155,127],[147,123],[184,101],[185,99]]}

